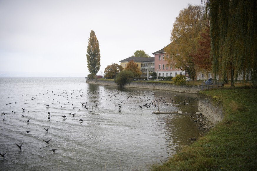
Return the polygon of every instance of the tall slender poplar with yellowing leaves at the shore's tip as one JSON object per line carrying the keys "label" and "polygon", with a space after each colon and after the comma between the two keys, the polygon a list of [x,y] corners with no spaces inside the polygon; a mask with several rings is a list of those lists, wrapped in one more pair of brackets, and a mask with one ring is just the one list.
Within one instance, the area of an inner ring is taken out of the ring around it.
{"label": "tall slender poplar with yellowing leaves at the shore's tip", "polygon": [[88,46],[87,46],[87,68],[90,73],[94,73],[95,75],[100,70],[100,49],[99,42],[95,36],[93,30],[90,32],[90,37],[88,38]]}

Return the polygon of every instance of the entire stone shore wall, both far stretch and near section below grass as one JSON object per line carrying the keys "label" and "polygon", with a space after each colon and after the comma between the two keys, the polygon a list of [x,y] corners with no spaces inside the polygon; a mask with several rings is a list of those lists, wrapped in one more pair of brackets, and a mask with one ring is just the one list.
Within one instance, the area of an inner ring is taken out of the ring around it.
{"label": "entire stone shore wall, both far stretch and near section below grass", "polygon": [[[107,85],[107,86],[116,86],[117,84],[114,81],[104,81],[104,80],[90,80],[87,79],[87,83],[98,84],[98,85]],[[198,93],[198,85],[173,85],[169,83],[149,83],[149,82],[131,82],[124,87],[132,88],[147,88],[153,90],[169,90],[183,93]],[[199,103],[198,110],[206,118],[208,118],[213,124],[217,124],[223,120],[223,108],[222,104],[216,101],[214,98],[207,97],[204,94],[199,94]]]}

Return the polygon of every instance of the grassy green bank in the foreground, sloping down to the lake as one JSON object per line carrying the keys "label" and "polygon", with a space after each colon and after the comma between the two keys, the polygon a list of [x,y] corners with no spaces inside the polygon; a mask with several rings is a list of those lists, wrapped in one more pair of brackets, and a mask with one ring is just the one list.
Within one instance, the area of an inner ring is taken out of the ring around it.
{"label": "grassy green bank in the foreground, sloping down to the lake", "polygon": [[200,93],[221,101],[223,121],[150,170],[257,170],[257,90],[223,88]]}

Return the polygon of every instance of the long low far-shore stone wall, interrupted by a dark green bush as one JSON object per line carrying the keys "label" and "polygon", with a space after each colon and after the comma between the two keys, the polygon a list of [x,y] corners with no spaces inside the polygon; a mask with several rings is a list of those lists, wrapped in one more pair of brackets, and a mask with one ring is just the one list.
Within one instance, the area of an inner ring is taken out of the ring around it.
{"label": "long low far-shore stone wall, interrupted by a dark green bush", "polygon": [[[87,79],[87,83],[94,83],[99,85],[109,85],[109,86],[117,86],[114,81],[104,81],[104,80],[89,80]],[[201,90],[201,87],[198,85],[181,85],[177,86],[170,83],[149,83],[149,82],[131,82],[130,84],[125,85],[124,87],[133,87],[133,88],[147,88],[153,90],[169,90],[183,93],[198,93]]]}

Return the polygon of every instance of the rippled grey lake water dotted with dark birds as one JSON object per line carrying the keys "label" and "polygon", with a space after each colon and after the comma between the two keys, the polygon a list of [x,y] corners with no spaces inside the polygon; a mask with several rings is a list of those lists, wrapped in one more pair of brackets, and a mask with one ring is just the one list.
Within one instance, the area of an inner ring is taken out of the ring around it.
{"label": "rippled grey lake water dotted with dark birds", "polygon": [[0,93],[1,170],[147,170],[200,133],[189,115],[152,114],[158,99],[160,111],[195,113],[196,94],[65,77],[0,77]]}

